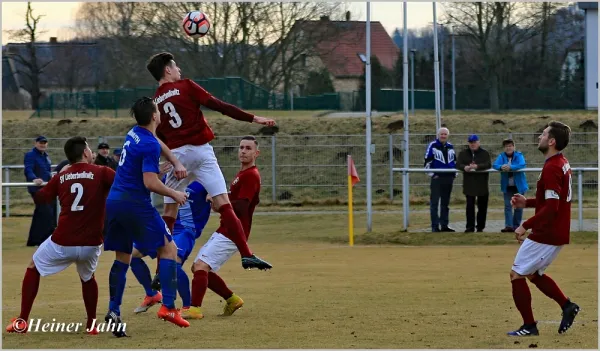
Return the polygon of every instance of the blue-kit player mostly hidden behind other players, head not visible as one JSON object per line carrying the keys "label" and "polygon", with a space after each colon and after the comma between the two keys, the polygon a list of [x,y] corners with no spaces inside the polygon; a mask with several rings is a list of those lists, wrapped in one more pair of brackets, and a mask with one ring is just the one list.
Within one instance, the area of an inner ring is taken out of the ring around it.
{"label": "blue-kit player mostly hidden behind other players, head not visible", "polygon": [[[186,193],[189,194],[188,201],[179,208],[173,231],[173,241],[177,245],[177,291],[182,300],[182,313],[190,308],[191,302],[190,280],[183,271],[182,265],[194,249],[196,240],[202,235],[202,231],[210,217],[211,209],[210,202],[206,201],[208,194],[200,183],[193,182],[190,184],[186,189]],[[135,309],[135,313],[146,312],[150,307],[162,301],[160,291],[152,288],[150,270],[142,260],[144,256],[150,256],[154,259],[156,258],[156,250],[140,251],[134,243],[131,270],[146,291],[146,296],[142,304]]]}

